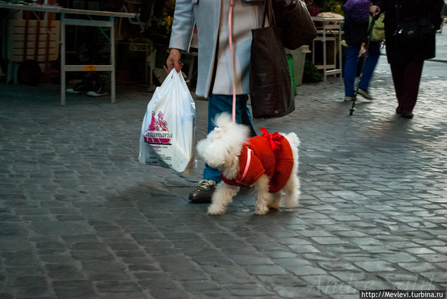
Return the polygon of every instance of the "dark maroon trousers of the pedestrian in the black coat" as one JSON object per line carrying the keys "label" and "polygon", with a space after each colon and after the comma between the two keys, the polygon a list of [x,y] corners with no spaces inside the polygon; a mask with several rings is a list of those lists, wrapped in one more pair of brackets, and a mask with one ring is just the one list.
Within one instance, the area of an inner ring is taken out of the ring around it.
{"label": "dark maroon trousers of the pedestrian in the black coat", "polygon": [[390,65],[397,102],[401,110],[412,111],[416,105],[423,65],[424,61]]}

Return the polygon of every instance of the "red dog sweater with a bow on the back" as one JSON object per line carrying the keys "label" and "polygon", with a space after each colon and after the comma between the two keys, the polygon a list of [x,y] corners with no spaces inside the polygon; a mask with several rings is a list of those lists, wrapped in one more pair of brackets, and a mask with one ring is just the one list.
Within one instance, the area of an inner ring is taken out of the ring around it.
{"label": "red dog sweater with a bow on the back", "polygon": [[247,140],[239,155],[239,171],[230,180],[220,174],[222,180],[232,186],[250,187],[264,173],[270,178],[268,192],[276,193],[287,183],[293,167],[293,154],[284,136],[275,132],[268,134],[261,128],[263,136]]}

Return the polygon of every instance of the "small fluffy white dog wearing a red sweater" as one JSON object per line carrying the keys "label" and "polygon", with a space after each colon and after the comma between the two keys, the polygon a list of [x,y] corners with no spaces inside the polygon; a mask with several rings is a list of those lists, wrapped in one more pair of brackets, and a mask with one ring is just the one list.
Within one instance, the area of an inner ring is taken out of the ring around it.
{"label": "small fluffy white dog wearing a red sweater", "polygon": [[240,186],[254,187],[258,194],[255,214],[277,209],[284,195],[287,208],[298,203],[298,146],[295,133],[268,134],[249,138],[249,128],[234,123],[228,113],[214,120],[216,128],[197,144],[197,152],[211,167],[221,171],[208,207],[208,214],[220,215],[232,202]]}

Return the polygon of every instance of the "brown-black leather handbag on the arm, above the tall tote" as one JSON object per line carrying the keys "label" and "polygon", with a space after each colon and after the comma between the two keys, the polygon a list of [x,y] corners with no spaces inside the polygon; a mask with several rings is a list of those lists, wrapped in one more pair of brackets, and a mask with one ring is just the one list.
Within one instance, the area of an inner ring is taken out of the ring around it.
{"label": "brown-black leather handbag on the arm, above the tall tote", "polygon": [[303,1],[274,0],[273,12],[284,47],[295,50],[317,37],[317,29]]}

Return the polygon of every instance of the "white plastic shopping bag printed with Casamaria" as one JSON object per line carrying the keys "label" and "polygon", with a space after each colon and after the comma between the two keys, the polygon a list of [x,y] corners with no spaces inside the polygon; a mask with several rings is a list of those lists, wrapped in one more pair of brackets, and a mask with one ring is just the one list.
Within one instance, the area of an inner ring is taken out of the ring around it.
{"label": "white plastic shopping bag printed with Casamaria", "polygon": [[195,159],[195,103],[175,69],[155,89],[140,134],[142,163],[190,173]]}

